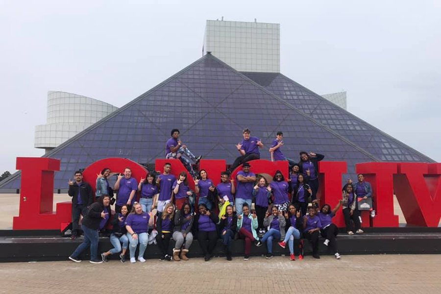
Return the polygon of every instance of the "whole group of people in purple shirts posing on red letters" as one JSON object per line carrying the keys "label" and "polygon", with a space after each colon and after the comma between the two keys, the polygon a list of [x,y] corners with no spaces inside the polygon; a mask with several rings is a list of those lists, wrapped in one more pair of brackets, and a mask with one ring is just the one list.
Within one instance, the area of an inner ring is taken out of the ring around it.
{"label": "whole group of people in purple shirts posing on red letters", "polygon": [[[251,165],[248,162],[257,159],[255,151],[263,146],[262,143],[258,138],[250,137],[248,129],[243,134],[244,140],[237,145],[242,155],[229,170],[222,172],[220,184],[215,186],[205,170],[198,173],[193,169],[189,171],[195,175],[194,191],[188,185],[187,173],[181,172],[176,178],[171,173],[170,163],[164,165],[163,172],[158,176],[148,173],[139,183],[131,176],[131,170],[126,168],[123,174],[118,174],[113,188],[108,181],[111,171],[106,168],[97,175],[96,202],[92,203],[92,188],[82,181],[81,172],[75,172],[75,181],[69,181],[68,193],[73,197],[71,238],[78,235],[78,221],[82,214],[84,242],[69,258],[80,261],[80,253],[90,246],[92,263],[107,261],[109,255],[116,253],[120,253],[120,259],[124,262],[129,248],[130,262],[134,263],[139,245],[137,259],[145,262],[147,245],[156,243],[161,251],[160,260],[188,260],[186,254],[195,236],[206,261],[212,257],[219,237],[225,246],[228,260],[231,260],[231,242],[234,239],[245,240],[245,260],[249,258],[252,244],[261,246],[264,243],[267,243],[267,258],[271,258],[274,239],[280,240],[278,244],[283,248],[288,243],[290,259],[295,260],[295,253],[299,259],[303,257],[303,243],[296,242],[299,246],[294,246],[294,240],[300,240],[302,235],[311,242],[313,256],[319,258],[321,234],[325,238],[324,245],[329,246],[339,259],[335,240],[338,228],[332,223],[332,217],[342,206],[347,233],[363,233],[357,198],[371,196],[370,184],[359,174],[357,183],[348,181],[343,187],[342,199],[334,209],[328,204],[319,209],[316,199],[319,189],[318,161],[324,158],[323,155],[300,152],[300,162],[295,163],[281,153],[283,134],[277,133],[270,148],[271,159],[288,160],[290,176],[285,179],[283,173],[277,171],[268,183],[264,176],[256,176],[250,171]],[[186,146],[181,145],[178,138],[179,131],[172,130],[172,138],[167,142],[166,157],[182,160],[185,157],[181,155],[185,154],[195,161],[200,160],[201,156],[196,158]],[[187,168],[188,165],[191,167],[188,159],[184,161]],[[242,165],[242,171],[237,173],[235,179],[230,179],[231,171],[239,165]],[[98,232],[105,230],[111,219],[110,205],[115,201],[114,190],[118,190],[110,234],[114,248],[103,252],[99,259]],[[135,202],[137,191],[140,191],[139,202]],[[198,209],[194,212],[197,197]],[[155,204],[156,216],[152,213]],[[352,229],[351,221],[355,230]],[[172,252],[168,252],[171,239],[175,241],[175,246]]]}

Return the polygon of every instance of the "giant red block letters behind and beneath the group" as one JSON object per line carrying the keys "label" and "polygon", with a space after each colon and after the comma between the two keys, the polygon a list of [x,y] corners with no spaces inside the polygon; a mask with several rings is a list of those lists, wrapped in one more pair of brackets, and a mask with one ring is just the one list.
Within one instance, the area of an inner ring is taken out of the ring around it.
{"label": "giant red block letters behind and beneath the group", "polygon": [[[162,172],[166,162],[172,164],[171,173],[178,176],[187,172],[176,159],[157,159],[155,170]],[[253,160],[249,162],[251,171],[272,178],[280,170],[288,178],[288,162]],[[95,191],[97,173],[103,168],[112,172],[132,170],[132,176],[139,182],[148,171],[140,164],[123,158],[106,158],[88,166],[83,172],[83,180],[90,183]],[[71,221],[72,203],[57,203],[56,212],[53,205],[53,176],[59,171],[60,161],[51,158],[18,157],[17,169],[22,170],[20,189],[20,213],[14,217],[14,230],[48,230],[63,229]],[[214,184],[219,184],[221,172],[225,170],[225,160],[203,159],[200,169],[207,171]],[[232,177],[240,171],[233,171]],[[346,162],[319,162],[320,203],[337,205],[342,197],[342,175],[347,171]],[[372,185],[372,199],[377,216],[369,219],[363,215],[363,227],[397,227],[398,217],[393,214],[393,192],[403,211],[408,224],[437,227],[441,218],[441,164],[427,163],[384,163],[368,162],[356,165],[356,171],[363,173]],[[195,183],[188,174],[189,186],[194,189]],[[68,179],[66,179],[66,186]],[[197,202],[196,202],[197,203]],[[363,212],[364,213],[364,212]],[[334,218],[338,226],[344,226],[341,210]],[[370,223],[371,222],[371,223]]]}

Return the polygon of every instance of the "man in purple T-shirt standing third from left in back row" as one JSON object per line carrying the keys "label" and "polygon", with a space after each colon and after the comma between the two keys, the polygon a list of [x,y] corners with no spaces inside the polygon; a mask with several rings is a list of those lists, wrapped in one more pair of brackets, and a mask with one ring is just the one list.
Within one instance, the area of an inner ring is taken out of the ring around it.
{"label": "man in purple T-shirt standing third from left in back row", "polygon": [[121,206],[124,204],[131,205],[135,202],[135,193],[138,191],[138,182],[132,177],[132,170],[124,169],[124,175],[118,175],[114,190],[118,190],[117,202],[115,204],[115,212],[121,212]]}

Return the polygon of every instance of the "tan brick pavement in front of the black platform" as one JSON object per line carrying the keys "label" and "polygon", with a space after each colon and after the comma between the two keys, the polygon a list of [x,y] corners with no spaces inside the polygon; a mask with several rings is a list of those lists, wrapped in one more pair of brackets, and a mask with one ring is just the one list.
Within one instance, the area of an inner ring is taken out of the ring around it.
{"label": "tan brick pavement in front of the black platform", "polygon": [[2,263],[0,293],[441,293],[441,255]]}

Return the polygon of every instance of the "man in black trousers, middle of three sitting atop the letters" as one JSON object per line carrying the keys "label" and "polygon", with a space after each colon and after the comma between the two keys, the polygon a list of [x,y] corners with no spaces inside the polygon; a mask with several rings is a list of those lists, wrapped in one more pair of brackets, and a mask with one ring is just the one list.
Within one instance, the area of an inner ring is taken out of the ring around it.
{"label": "man in black trousers, middle of three sitting atop the letters", "polygon": [[259,148],[264,147],[262,142],[257,137],[250,137],[250,130],[248,128],[244,129],[243,136],[244,140],[241,143],[236,145],[237,150],[241,153],[241,156],[236,158],[234,163],[231,165],[229,172],[233,172],[238,166],[241,164],[254,160],[260,159],[260,151]]}

